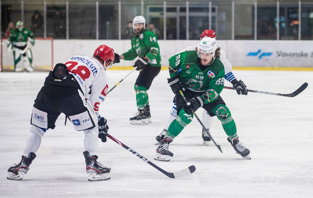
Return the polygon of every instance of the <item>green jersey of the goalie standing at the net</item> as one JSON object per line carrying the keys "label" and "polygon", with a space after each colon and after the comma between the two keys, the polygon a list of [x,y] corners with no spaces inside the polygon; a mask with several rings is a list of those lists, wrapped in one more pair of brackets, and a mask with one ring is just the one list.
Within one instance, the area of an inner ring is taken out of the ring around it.
{"label": "green jersey of the goalie standing at the net", "polygon": [[9,36],[9,41],[13,43],[13,46],[25,46],[27,45],[27,38],[31,39],[31,43],[35,44],[35,37],[34,34],[27,28],[23,28],[22,31],[18,31],[18,29],[13,29]]}

